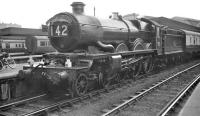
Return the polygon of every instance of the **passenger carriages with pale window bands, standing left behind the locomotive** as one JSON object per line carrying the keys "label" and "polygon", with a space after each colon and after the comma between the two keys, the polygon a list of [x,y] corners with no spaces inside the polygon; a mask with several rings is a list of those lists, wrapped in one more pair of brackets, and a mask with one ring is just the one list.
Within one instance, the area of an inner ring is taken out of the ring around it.
{"label": "passenger carriages with pale window bands, standing left behind the locomotive", "polygon": [[0,49],[10,55],[55,52],[47,36],[0,36]]}

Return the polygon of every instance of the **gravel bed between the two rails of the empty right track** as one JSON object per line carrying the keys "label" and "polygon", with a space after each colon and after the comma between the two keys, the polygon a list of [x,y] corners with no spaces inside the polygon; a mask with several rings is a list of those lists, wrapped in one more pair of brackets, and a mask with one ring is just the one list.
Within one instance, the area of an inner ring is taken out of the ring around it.
{"label": "gravel bed between the two rails of the empty right track", "polygon": [[156,116],[167,103],[196,78],[199,70],[200,67],[198,66],[182,74],[180,78],[170,80],[170,82],[156,88],[116,116]]}

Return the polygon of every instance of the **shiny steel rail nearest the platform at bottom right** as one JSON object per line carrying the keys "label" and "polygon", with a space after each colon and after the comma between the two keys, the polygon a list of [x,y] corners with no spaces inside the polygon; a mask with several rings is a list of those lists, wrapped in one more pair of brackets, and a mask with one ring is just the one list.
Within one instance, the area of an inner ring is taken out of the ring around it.
{"label": "shiny steel rail nearest the platform at bottom right", "polygon": [[166,116],[170,111],[172,111],[176,104],[179,103],[179,101],[185,96],[187,95],[187,92],[189,90],[192,90],[195,85],[197,85],[200,81],[200,74],[190,83],[188,84],[188,86],[186,86],[181,92],[179,92],[179,94],[172,99],[159,113],[157,116]]}

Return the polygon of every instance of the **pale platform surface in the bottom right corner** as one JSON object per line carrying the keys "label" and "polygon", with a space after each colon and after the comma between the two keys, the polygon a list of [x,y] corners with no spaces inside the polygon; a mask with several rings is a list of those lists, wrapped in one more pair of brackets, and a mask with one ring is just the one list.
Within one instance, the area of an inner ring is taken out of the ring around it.
{"label": "pale platform surface in the bottom right corner", "polygon": [[200,115],[200,83],[192,95],[186,101],[178,116],[199,116]]}

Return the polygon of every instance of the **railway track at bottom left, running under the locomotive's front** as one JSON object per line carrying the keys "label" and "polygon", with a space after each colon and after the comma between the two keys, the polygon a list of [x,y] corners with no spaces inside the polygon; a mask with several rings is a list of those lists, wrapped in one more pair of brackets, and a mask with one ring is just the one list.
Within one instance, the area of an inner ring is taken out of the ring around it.
{"label": "railway track at bottom left, running under the locomotive's front", "polygon": [[[144,75],[141,75],[144,76]],[[132,81],[126,80],[122,83],[114,84],[108,88],[89,92],[88,94],[77,98],[58,98],[49,99],[46,94],[36,97],[24,99],[21,101],[9,103],[0,106],[1,116],[32,116],[32,115],[47,115],[56,111],[68,112],[73,108],[73,105],[83,100],[90,99],[94,96],[99,96],[103,93],[107,93],[111,90],[121,88],[123,86],[129,86]]]}

